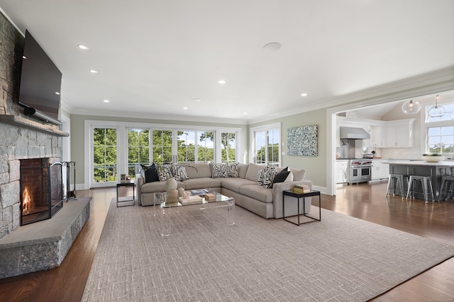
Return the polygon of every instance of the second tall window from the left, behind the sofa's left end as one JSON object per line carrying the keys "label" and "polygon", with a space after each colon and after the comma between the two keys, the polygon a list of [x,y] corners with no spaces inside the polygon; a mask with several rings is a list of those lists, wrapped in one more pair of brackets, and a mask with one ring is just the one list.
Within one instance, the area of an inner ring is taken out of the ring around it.
{"label": "second tall window from the left, behind the sofa's left end", "polygon": [[150,163],[150,130],[128,129],[128,175],[135,178],[135,165]]}

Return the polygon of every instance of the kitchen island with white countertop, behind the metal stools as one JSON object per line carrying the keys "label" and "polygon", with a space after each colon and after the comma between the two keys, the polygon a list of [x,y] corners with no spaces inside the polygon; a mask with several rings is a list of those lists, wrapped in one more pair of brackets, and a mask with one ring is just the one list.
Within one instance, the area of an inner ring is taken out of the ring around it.
{"label": "kitchen island with white countertop, behind the metal stools", "polygon": [[454,161],[428,162],[423,160],[402,160],[384,161],[389,164],[390,174],[430,176],[433,192],[438,196],[441,185],[441,178],[445,175],[452,175],[454,172]]}

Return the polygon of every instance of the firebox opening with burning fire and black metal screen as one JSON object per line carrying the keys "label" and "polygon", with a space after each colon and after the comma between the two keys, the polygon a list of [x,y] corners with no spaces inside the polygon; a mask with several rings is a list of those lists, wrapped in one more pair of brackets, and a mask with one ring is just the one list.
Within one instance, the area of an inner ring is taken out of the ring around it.
{"label": "firebox opening with burning fire and black metal screen", "polygon": [[21,225],[50,219],[63,207],[62,163],[21,160]]}

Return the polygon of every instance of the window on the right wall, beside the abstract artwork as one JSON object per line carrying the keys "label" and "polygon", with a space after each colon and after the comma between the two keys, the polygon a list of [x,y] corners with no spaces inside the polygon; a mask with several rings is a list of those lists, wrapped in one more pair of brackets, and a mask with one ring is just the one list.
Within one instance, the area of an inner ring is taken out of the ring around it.
{"label": "window on the right wall, beside the abstract artwork", "polygon": [[280,165],[280,123],[251,128],[251,162],[258,165]]}

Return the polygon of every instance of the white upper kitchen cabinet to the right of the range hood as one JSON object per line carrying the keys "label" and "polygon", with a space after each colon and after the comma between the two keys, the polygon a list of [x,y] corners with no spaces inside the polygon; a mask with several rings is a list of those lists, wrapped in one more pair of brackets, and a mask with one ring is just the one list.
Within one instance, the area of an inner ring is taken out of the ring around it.
{"label": "white upper kitchen cabinet to the right of the range hood", "polygon": [[414,121],[415,119],[386,122],[382,127],[382,147],[412,147]]}

